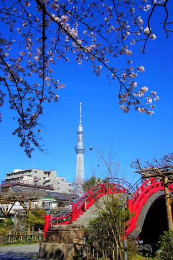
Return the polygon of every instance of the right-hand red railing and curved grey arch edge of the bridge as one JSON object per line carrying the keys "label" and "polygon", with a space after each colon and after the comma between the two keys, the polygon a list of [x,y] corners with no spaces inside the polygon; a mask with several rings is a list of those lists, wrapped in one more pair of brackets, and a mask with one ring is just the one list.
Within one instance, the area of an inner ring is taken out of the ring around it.
{"label": "right-hand red railing and curved grey arch edge of the bridge", "polygon": [[[173,184],[169,185],[169,191],[170,193],[173,192]],[[156,180],[155,178],[148,179],[146,182],[144,182],[139,189],[136,191],[136,193],[133,195],[132,199],[129,200],[129,209],[134,214],[134,216],[129,221],[129,227],[127,228],[127,236],[133,237],[133,238],[139,238],[139,235],[141,236],[142,228],[146,222],[146,218],[150,214],[150,211],[153,207],[155,207],[156,202],[159,201],[161,203],[162,199],[162,214],[165,215],[165,229],[162,230],[168,230],[167,227],[167,217],[166,217],[166,204],[165,204],[165,193],[164,193],[164,184]],[[158,204],[159,205],[159,204]],[[157,211],[158,208],[155,208],[155,211]],[[155,216],[155,211],[153,211],[153,214],[150,216],[152,219],[153,216]],[[158,213],[161,213],[158,211]],[[157,216],[155,216],[157,220]],[[157,221],[155,221],[157,222]],[[153,226],[155,224],[153,221]],[[149,224],[148,224],[149,226]],[[145,229],[147,227],[145,226]],[[160,227],[160,229],[162,229]],[[144,230],[144,228],[143,228]],[[162,234],[160,232],[160,235]],[[150,233],[150,236],[153,234]]]}

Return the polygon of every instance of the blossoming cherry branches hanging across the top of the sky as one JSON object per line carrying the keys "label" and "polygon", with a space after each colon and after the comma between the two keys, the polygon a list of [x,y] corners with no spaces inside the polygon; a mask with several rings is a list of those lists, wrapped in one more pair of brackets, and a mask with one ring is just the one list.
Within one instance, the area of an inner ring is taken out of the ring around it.
{"label": "blossoming cherry branches hanging across the top of the sky", "polygon": [[[148,40],[155,40],[151,17],[158,8],[165,12],[163,28],[170,26],[169,0],[6,0],[0,7],[0,106],[8,95],[16,111],[18,127],[13,131],[20,146],[31,157],[36,146],[41,151],[43,104],[58,102],[64,88],[53,76],[53,65],[72,56],[81,65],[89,63],[96,76],[106,69],[108,80],[116,80],[119,104],[152,114],[159,97],[148,87],[137,87],[137,73],[143,65],[132,65],[133,46],[144,53]],[[144,16],[144,19],[142,18]],[[2,29],[3,28],[3,29]],[[135,50],[135,49],[134,49]],[[119,67],[120,59],[124,66]],[[147,94],[148,93],[148,94]],[[2,115],[0,114],[0,121]]]}

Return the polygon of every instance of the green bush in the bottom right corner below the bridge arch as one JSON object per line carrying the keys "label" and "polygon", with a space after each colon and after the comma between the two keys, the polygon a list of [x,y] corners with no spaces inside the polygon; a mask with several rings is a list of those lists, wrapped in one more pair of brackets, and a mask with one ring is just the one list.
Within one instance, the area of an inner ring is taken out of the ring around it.
{"label": "green bush in the bottom right corner below the bridge arch", "polygon": [[162,250],[161,259],[173,260],[173,230],[164,231],[160,236],[158,246]]}

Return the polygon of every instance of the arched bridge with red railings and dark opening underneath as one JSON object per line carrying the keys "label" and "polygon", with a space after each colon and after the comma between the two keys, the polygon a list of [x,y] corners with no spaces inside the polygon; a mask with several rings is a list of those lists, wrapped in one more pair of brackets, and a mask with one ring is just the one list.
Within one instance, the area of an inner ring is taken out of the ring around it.
{"label": "arched bridge with red railings and dark opening underneath", "polygon": [[[151,178],[142,184],[140,183],[140,187],[138,188],[139,181],[133,186],[128,186],[127,182],[119,179],[114,181],[117,181],[117,183],[102,183],[90,189],[79,201],[73,201],[70,208],[65,209],[52,218],[47,210],[44,237],[46,231],[52,225],[74,223],[77,219],[80,219],[84,212],[87,212],[94,205],[95,201],[104,195],[110,194],[122,194],[124,199],[127,200],[130,212],[133,213],[133,217],[127,225],[127,236],[141,239],[144,236],[151,235],[151,233],[153,236],[154,233],[157,236],[158,232],[162,233],[168,229],[163,183],[155,178]],[[173,192],[173,184],[169,185],[169,191],[170,193]]]}

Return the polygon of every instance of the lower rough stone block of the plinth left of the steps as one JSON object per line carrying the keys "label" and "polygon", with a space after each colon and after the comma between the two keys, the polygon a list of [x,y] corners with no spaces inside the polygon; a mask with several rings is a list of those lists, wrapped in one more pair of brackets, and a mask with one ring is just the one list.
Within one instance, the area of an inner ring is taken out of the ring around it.
{"label": "lower rough stone block of the plinth left of the steps", "polygon": [[73,244],[40,243],[39,258],[50,260],[74,260],[76,250]]}

